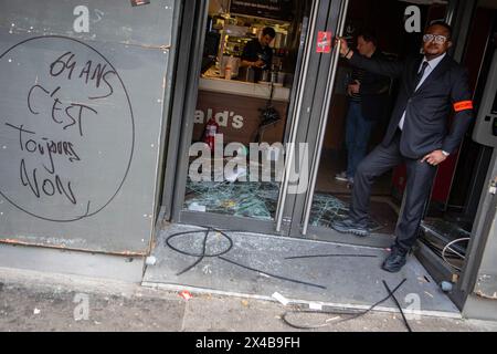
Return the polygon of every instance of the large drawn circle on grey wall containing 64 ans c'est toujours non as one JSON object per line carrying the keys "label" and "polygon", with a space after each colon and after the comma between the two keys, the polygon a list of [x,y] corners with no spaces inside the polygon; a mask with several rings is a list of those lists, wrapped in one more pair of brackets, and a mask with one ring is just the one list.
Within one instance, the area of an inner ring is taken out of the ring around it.
{"label": "large drawn circle on grey wall containing 64 ans c'est toujours non", "polygon": [[0,195],[43,220],[101,212],[133,160],[130,97],[112,62],[75,39],[22,41],[0,55]]}

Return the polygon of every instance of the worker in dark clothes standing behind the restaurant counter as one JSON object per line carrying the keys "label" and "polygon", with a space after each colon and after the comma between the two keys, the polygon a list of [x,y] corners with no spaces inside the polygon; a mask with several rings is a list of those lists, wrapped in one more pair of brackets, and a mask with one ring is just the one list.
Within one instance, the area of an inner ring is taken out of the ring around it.
{"label": "worker in dark clothes standing behind the restaurant counter", "polygon": [[254,39],[245,45],[241,66],[253,67],[256,77],[261,77],[263,70],[271,70],[273,50],[269,48],[269,44],[275,37],[276,31],[271,27],[266,27],[260,39]]}

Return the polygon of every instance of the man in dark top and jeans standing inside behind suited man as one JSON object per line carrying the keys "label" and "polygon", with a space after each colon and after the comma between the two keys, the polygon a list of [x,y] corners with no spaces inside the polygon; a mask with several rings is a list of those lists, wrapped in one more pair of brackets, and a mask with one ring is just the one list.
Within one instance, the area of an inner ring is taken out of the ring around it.
{"label": "man in dark top and jeans standing inside behind suited man", "polygon": [[[373,32],[357,37],[358,54],[372,60],[387,60],[377,48]],[[346,123],[347,170],[335,176],[353,185],[357,167],[368,153],[369,139],[378,121],[385,114],[390,79],[355,67],[348,86],[349,110]]]}

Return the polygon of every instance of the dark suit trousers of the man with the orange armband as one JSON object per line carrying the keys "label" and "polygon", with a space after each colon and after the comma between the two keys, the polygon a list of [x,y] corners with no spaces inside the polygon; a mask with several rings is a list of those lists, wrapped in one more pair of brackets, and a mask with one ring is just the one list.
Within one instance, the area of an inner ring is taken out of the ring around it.
{"label": "dark suit trousers of the man with the orange armband", "polygon": [[417,239],[426,200],[436,175],[436,167],[417,159],[403,157],[399,147],[401,134],[398,131],[390,146],[378,146],[359,165],[355,177],[350,217],[357,222],[366,222],[374,179],[405,163],[408,167],[406,199],[395,230],[394,246],[409,251]]}

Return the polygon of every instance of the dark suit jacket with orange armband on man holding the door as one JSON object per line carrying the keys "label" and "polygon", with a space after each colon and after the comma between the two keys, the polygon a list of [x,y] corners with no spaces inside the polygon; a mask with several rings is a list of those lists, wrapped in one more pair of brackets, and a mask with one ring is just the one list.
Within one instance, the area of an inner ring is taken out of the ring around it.
{"label": "dark suit jacket with orange armband on man holding the door", "polygon": [[[415,80],[422,60],[420,55],[404,62],[390,62],[364,59],[356,53],[350,59],[352,65],[400,79],[399,96],[382,144],[391,144],[405,112],[400,150],[413,159],[437,149],[454,153],[473,119],[473,107],[467,104],[472,101],[467,71],[445,55],[416,91]],[[448,115],[454,107],[457,110],[448,127]]]}

